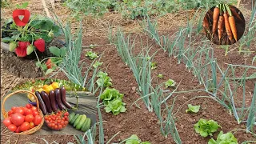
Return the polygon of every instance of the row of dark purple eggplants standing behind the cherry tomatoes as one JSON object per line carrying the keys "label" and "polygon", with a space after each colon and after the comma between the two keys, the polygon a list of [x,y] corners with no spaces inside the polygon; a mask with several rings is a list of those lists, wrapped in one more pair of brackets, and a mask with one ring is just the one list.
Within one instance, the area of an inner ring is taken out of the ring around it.
{"label": "row of dark purple eggplants standing behind the cherry tomatoes", "polygon": [[48,113],[57,112],[59,109],[67,110],[73,107],[66,101],[66,90],[63,86],[54,90],[47,87],[46,90],[47,91],[42,90],[41,92],[38,90],[35,91],[43,114],[46,115]]}

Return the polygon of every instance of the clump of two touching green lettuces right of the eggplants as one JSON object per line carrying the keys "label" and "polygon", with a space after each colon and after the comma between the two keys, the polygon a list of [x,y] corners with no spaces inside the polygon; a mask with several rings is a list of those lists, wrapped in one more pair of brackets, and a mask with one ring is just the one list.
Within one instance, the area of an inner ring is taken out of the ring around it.
{"label": "clump of two touching green lettuces right of the eggplants", "polygon": [[126,103],[122,102],[122,97],[123,94],[120,94],[118,90],[107,87],[100,95],[100,99],[104,103],[106,113],[112,112],[114,115],[118,115],[125,112]]}

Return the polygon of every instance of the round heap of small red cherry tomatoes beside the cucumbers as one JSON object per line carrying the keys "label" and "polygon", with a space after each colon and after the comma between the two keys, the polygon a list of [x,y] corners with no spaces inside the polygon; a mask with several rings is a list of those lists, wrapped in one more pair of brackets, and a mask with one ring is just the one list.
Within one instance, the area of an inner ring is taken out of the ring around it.
{"label": "round heap of small red cherry tomatoes beside the cucumbers", "polygon": [[55,114],[45,116],[46,125],[52,130],[62,130],[69,123],[69,113],[58,110]]}

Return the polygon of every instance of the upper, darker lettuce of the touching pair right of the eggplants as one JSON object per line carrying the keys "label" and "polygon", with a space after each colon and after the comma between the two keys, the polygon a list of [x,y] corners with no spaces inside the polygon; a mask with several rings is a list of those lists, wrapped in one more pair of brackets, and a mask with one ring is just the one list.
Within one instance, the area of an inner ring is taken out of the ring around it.
{"label": "upper, darker lettuce of the touching pair right of the eggplants", "polygon": [[124,94],[120,94],[118,90],[109,87],[106,88],[106,90],[103,91],[103,93],[100,95],[100,99],[104,102],[105,105],[107,105],[110,101],[113,101],[117,98],[122,98]]}

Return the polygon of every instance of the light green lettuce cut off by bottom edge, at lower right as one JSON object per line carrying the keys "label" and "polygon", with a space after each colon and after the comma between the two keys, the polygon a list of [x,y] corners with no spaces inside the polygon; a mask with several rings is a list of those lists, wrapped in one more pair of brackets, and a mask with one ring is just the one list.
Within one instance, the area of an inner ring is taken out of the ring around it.
{"label": "light green lettuce cut off by bottom edge, at lower right", "polygon": [[223,131],[221,131],[218,134],[217,141],[215,141],[214,138],[211,138],[208,144],[238,144],[238,139],[230,132],[223,134]]}

